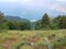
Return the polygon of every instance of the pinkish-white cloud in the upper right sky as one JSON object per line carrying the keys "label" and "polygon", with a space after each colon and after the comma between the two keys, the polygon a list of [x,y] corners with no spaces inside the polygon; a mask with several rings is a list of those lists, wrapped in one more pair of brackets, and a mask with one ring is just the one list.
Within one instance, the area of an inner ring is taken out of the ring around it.
{"label": "pinkish-white cloud in the upper right sky", "polygon": [[62,7],[62,5],[57,4],[57,3],[48,4],[47,8],[50,10],[56,10],[56,11],[61,11],[61,12],[66,12],[66,7]]}

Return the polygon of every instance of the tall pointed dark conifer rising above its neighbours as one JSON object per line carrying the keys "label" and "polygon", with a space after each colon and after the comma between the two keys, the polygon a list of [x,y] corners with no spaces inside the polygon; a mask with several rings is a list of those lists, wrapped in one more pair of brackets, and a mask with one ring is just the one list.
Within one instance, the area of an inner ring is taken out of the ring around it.
{"label": "tall pointed dark conifer rising above its neighbours", "polygon": [[50,17],[48,17],[47,13],[45,13],[41,21],[41,27],[48,28],[50,27],[48,25],[50,25]]}

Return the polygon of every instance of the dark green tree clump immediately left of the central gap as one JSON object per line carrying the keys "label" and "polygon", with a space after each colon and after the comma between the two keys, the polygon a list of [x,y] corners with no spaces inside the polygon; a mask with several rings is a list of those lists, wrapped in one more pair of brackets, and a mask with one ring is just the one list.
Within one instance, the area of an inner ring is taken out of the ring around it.
{"label": "dark green tree clump immediately left of the central gap", "polygon": [[16,29],[20,29],[20,30],[31,29],[30,22],[29,21],[26,21],[26,22],[16,22]]}

